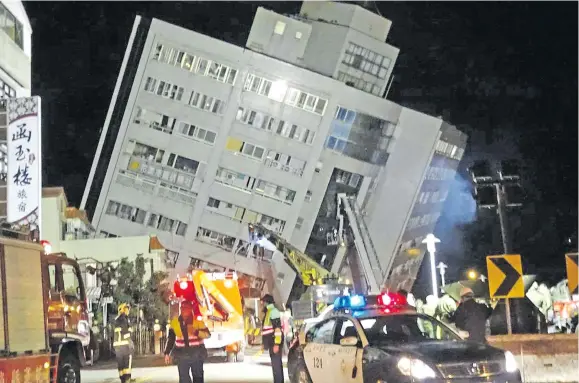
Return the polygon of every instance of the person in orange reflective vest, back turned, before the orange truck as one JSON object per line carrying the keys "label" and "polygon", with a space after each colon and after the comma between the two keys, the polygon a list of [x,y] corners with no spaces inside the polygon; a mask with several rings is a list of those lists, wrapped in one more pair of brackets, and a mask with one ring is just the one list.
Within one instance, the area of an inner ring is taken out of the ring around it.
{"label": "person in orange reflective vest, back turned, before the orange truck", "polygon": [[192,302],[181,302],[181,315],[173,318],[169,325],[165,363],[171,362],[171,356],[175,358],[179,383],[203,383],[203,362],[207,358],[204,339],[211,333],[196,311]]}

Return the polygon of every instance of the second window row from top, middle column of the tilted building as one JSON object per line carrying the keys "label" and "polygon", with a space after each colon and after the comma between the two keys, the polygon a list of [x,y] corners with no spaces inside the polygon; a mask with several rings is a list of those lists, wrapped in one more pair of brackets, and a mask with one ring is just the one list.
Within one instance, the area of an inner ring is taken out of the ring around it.
{"label": "second window row from top, middle column of the tilted building", "polygon": [[253,109],[239,107],[235,119],[243,124],[275,133],[278,136],[290,138],[310,145],[314,142],[316,133],[302,126],[292,124]]}

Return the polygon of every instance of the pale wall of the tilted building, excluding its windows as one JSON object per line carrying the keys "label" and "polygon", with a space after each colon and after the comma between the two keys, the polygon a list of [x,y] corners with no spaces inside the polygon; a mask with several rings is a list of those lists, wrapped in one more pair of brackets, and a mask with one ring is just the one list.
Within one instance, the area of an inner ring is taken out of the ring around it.
{"label": "pale wall of the tilted building, excluding its windows", "polygon": [[[387,33],[388,28],[381,33]],[[221,83],[155,60],[155,47],[158,43],[236,69],[238,73],[234,85]],[[129,47],[128,51],[130,49],[134,48]],[[244,90],[243,85],[249,75],[262,76],[278,85],[281,80],[289,87],[326,99],[327,105],[323,116]],[[169,100],[145,92],[144,86],[148,77],[182,87],[184,89],[182,99]],[[226,102],[226,108],[221,115],[216,115],[188,106],[187,102],[192,91],[216,97]],[[397,124],[395,143],[389,146],[391,156],[384,168],[338,155],[324,148],[338,106]],[[175,125],[172,134],[137,124],[135,116],[138,107],[216,132],[216,139],[210,145],[182,137],[177,133],[178,124]],[[238,107],[250,108],[291,121],[314,131],[315,139],[311,144],[304,144],[250,127],[236,120]],[[195,240],[198,227],[240,240],[247,239],[247,222],[240,223],[232,219],[232,216],[227,216],[221,207],[218,210],[208,208],[209,198],[217,198],[232,206],[241,206],[285,220],[283,237],[290,239],[292,244],[303,250],[330,176],[335,168],[339,168],[363,176],[363,188],[358,197],[360,201],[369,201],[363,208],[368,214],[367,221],[372,238],[376,238],[375,247],[379,249],[381,265],[386,268],[400,242],[405,222],[412,210],[433,147],[436,145],[440,126],[439,119],[402,108],[388,100],[349,87],[336,79],[153,19],[130,89],[92,223],[98,230],[120,236],[157,234],[167,248],[180,253],[178,270],[184,269],[189,264],[189,257],[195,257],[257,275],[260,274],[259,265],[254,260],[240,255],[234,256],[232,251],[216,250],[215,246]],[[107,128],[105,126],[104,131]],[[271,149],[306,161],[302,176],[269,167],[267,161],[263,159],[259,161],[228,151],[226,149],[228,137],[263,147],[266,153]],[[164,194],[161,197],[160,193],[168,192],[160,181],[148,182],[141,178],[132,180],[132,184],[129,185],[127,179],[122,178],[124,175],[119,173],[130,170],[128,167],[133,163],[130,154],[127,153],[130,140],[164,150],[163,156],[160,157],[161,165],[167,163],[171,153],[199,161],[201,170],[196,174],[190,190],[185,194],[174,193],[170,197],[169,194]],[[265,156],[266,154],[264,158]],[[98,160],[98,157],[95,158],[95,164]],[[319,163],[323,166],[317,172],[316,167]],[[256,195],[255,191],[248,192],[224,186],[216,182],[219,167],[255,179],[265,179],[294,190],[296,192],[294,201],[291,205],[287,205]],[[122,178],[123,185],[117,181],[121,179],[119,177]],[[91,182],[92,179],[89,179],[83,203],[86,202]],[[308,190],[312,192],[312,197],[309,201],[305,201]],[[181,202],[175,202],[177,196],[181,198]],[[188,199],[187,203],[182,202],[185,199]],[[188,225],[186,234],[181,236],[150,228],[146,220],[138,223],[107,215],[107,205],[111,200],[142,209],[147,212],[147,218],[151,213],[162,214],[186,223]],[[84,208],[84,205],[81,208]],[[298,218],[301,218],[303,223],[301,228],[296,229]]]}

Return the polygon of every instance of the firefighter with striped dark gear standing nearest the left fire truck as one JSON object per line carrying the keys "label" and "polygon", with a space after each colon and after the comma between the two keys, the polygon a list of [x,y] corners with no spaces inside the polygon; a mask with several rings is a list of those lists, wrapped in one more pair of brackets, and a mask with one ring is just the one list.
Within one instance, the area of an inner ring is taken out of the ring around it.
{"label": "firefighter with striped dark gear standing nearest the left fire truck", "polygon": [[115,334],[113,347],[117,357],[117,368],[121,383],[131,380],[131,364],[133,362],[134,345],[131,339],[131,324],[129,322],[129,310],[127,303],[119,305],[119,315],[115,318]]}

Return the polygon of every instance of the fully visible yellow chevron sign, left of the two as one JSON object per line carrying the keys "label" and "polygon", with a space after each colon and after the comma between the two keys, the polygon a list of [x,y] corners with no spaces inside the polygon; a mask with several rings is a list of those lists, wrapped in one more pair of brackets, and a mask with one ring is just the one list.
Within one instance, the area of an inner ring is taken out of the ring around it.
{"label": "fully visible yellow chevron sign, left of the two", "polygon": [[489,255],[487,276],[491,298],[524,298],[523,265],[521,256]]}

